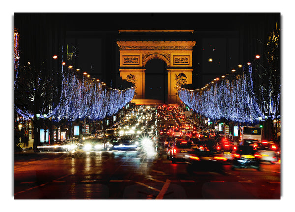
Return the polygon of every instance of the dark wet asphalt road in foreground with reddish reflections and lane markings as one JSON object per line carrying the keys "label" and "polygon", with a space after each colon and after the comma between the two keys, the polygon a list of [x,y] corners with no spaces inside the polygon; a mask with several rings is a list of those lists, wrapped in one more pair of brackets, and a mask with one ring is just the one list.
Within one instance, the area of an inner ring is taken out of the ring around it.
{"label": "dark wet asphalt road in foreground with reddish reflections and lane markings", "polygon": [[144,152],[15,154],[15,199],[280,199],[279,164],[262,170],[172,164]]}

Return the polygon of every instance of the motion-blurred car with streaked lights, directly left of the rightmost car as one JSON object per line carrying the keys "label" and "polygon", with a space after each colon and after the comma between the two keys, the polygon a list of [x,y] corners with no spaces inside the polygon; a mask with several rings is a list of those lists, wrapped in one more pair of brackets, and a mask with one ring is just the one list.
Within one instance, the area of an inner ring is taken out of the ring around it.
{"label": "motion-blurred car with streaked lights, directly left of the rightmost car", "polygon": [[232,170],[236,168],[254,168],[260,171],[262,155],[251,145],[238,145],[233,151]]}

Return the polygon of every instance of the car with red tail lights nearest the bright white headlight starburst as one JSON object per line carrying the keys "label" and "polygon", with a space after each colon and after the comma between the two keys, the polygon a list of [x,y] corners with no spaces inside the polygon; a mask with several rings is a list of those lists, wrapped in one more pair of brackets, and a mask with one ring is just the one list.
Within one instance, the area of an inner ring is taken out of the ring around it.
{"label": "car with red tail lights nearest the bright white headlight starburst", "polygon": [[189,140],[176,140],[171,147],[171,161],[185,161],[186,155],[195,151],[195,144]]}

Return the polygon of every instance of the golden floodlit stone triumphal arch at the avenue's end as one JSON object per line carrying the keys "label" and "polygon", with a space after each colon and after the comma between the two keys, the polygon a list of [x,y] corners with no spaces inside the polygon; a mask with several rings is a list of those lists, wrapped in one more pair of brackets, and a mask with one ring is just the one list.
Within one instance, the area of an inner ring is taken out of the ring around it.
{"label": "golden floodlit stone triumphal arch at the avenue's end", "polygon": [[195,43],[196,41],[117,41],[120,77],[135,84],[132,101],[144,102],[145,65],[158,58],[167,64],[167,103],[179,103],[177,86],[192,83],[192,51]]}

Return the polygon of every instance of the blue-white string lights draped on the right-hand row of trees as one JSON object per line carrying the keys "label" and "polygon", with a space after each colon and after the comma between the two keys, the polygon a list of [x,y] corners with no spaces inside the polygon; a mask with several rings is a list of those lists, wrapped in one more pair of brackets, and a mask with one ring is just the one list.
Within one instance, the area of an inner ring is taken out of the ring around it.
{"label": "blue-white string lights draped on the right-hand row of trees", "polygon": [[179,89],[179,98],[195,112],[211,120],[254,123],[264,114],[253,91],[252,67],[242,75],[231,76],[210,84],[206,89]]}

